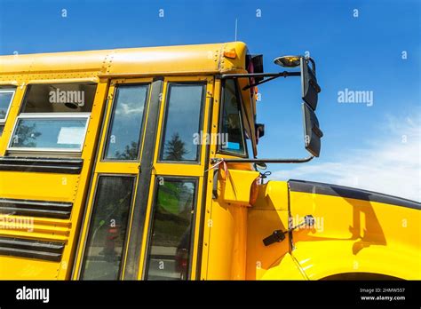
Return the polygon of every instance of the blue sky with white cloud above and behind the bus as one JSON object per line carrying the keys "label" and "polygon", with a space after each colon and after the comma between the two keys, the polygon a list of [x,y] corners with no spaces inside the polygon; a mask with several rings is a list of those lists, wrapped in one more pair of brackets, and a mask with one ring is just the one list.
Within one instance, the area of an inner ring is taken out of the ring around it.
{"label": "blue sky with white cloud above and behind the bus", "polygon": [[[0,0],[0,54],[234,41],[235,19],[237,39],[264,54],[266,72],[285,54],[310,52],[317,63],[322,155],[306,166],[272,165],[274,178],[421,200],[419,1]],[[338,103],[345,89],[372,91],[373,105]],[[259,91],[259,156],[306,156],[299,79]]]}

